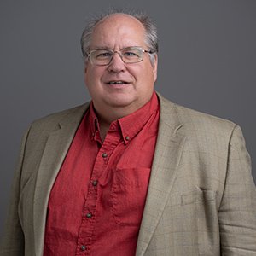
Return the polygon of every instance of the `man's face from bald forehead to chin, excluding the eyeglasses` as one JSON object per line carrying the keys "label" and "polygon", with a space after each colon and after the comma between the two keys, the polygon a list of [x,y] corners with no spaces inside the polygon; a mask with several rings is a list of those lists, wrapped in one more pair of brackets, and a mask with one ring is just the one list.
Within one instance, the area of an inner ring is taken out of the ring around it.
{"label": "man's face from bald forehead to chin, excluding the eyeglasses", "polygon": [[[120,50],[131,46],[148,50],[144,27],[135,18],[120,14],[100,21],[90,42],[90,49]],[[143,61],[132,64],[125,64],[118,54],[114,54],[106,66],[92,65],[88,61],[84,81],[96,111],[120,108],[132,113],[150,100],[156,72],[157,60],[153,67],[148,53],[143,54]]]}

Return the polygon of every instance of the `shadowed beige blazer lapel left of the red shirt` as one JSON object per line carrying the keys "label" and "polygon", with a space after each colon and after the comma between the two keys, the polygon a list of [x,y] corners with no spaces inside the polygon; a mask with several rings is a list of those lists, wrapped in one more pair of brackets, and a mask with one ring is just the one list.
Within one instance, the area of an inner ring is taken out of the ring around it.
{"label": "shadowed beige blazer lapel left of the red shirt", "polygon": [[44,154],[38,168],[38,177],[34,194],[33,224],[36,255],[42,255],[44,249],[44,228],[50,190],[55,182],[67,150],[73,141],[75,132],[88,105],[67,114],[59,124],[59,129],[49,134]]}

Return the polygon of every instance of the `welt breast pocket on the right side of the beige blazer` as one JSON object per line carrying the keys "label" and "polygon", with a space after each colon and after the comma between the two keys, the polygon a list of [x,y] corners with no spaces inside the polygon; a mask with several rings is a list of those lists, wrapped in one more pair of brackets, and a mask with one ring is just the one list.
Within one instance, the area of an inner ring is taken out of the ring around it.
{"label": "welt breast pocket on the right side of the beige blazer", "polygon": [[216,192],[212,190],[197,189],[181,196],[181,204],[189,205],[195,202],[214,201]]}

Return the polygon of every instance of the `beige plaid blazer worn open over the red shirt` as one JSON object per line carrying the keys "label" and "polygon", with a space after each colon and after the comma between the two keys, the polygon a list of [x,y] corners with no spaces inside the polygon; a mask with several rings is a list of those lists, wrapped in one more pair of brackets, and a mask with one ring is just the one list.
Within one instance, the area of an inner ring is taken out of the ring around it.
{"label": "beige plaid blazer worn open over the red shirt", "polygon": [[[241,129],[159,98],[136,255],[256,255],[256,189]],[[49,115],[26,132],[0,255],[42,255],[49,193],[87,108]]]}

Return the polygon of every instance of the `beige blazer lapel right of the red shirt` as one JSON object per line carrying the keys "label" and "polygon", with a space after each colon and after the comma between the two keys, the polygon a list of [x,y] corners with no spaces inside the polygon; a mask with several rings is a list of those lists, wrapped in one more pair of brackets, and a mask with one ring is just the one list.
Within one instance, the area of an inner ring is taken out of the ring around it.
{"label": "beige blazer lapel right of the red shirt", "polygon": [[148,195],[137,240],[137,256],[142,256],[154,234],[172,190],[185,137],[172,102],[160,98],[160,125],[154,152]]}

